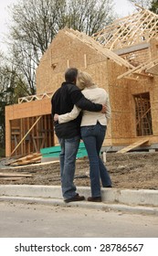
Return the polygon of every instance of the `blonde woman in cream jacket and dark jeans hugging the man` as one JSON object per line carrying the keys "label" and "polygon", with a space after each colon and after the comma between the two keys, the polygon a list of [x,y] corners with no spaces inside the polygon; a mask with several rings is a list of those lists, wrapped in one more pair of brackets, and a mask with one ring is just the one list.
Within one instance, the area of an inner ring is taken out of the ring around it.
{"label": "blonde woman in cream jacket and dark jeans hugging the man", "polygon": [[[81,138],[85,144],[90,160],[90,188],[91,197],[88,201],[101,202],[100,180],[102,187],[111,187],[111,177],[106,166],[100,159],[100,149],[104,141],[107,123],[111,118],[111,106],[108,93],[95,85],[87,72],[79,72],[77,85],[84,96],[94,103],[106,105],[106,114],[102,112],[82,112],[80,123]],[[58,123],[66,123],[75,119],[81,110],[75,105],[71,112],[56,114],[54,119]]]}

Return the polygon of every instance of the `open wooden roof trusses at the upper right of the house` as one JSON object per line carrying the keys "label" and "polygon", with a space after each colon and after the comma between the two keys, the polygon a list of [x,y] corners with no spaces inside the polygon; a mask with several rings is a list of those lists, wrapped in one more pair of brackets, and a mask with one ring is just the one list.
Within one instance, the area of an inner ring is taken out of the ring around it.
{"label": "open wooden roof trusses at the upper right of the house", "polygon": [[157,37],[158,15],[140,7],[137,13],[115,20],[93,38],[101,45],[111,50],[129,48],[133,45],[148,43]]}

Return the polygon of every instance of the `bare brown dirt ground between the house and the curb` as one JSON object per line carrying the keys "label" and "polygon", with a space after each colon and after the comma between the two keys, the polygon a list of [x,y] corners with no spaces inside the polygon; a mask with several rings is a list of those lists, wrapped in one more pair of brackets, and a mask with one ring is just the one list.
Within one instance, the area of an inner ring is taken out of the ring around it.
{"label": "bare brown dirt ground between the house and the curb", "polygon": [[[158,189],[158,152],[107,154],[106,166],[112,180],[112,186],[117,188]],[[59,162],[40,163],[13,167],[8,160],[0,160],[1,174],[29,174],[29,177],[2,177],[0,185],[60,185]],[[89,160],[87,157],[78,159],[76,164],[75,184],[90,186]]]}

